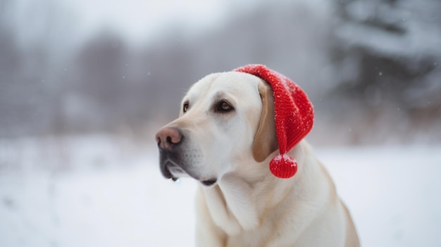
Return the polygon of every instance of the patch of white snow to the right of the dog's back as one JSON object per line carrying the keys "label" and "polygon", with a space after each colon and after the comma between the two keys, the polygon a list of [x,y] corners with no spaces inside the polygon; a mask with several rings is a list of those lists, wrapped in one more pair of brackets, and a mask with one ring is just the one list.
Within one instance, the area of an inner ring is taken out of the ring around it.
{"label": "patch of white snow to the right of the dog's back", "polygon": [[328,148],[318,156],[364,246],[441,242],[441,146]]}

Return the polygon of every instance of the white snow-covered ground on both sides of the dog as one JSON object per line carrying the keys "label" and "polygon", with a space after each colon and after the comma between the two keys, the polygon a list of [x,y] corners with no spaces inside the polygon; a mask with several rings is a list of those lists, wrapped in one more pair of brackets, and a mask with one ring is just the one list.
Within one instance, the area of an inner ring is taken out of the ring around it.
{"label": "white snow-covered ground on both sides of the dog", "polygon": [[[318,148],[362,246],[441,246],[441,146]],[[0,246],[194,246],[196,183],[108,136],[0,140]]]}

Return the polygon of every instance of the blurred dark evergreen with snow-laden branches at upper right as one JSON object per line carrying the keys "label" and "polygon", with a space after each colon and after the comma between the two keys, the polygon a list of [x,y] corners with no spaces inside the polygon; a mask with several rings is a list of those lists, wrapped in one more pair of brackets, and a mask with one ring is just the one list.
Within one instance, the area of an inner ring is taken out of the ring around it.
{"label": "blurred dark evergreen with snow-laden branches at upper right", "polygon": [[441,113],[441,1],[338,1],[333,93],[405,110]]}

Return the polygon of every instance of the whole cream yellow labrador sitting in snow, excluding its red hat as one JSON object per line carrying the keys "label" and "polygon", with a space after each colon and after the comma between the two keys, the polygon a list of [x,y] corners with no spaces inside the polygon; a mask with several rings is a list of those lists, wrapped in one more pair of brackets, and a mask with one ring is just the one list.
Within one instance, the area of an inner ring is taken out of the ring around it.
{"label": "whole cream yellow labrador sitting in snow, excluding its red hat", "polygon": [[[359,246],[347,208],[311,146],[288,154],[297,174],[280,179],[273,91],[243,72],[207,75],[182,100],[180,118],[156,134],[163,176],[192,177],[197,246]],[[258,131],[259,129],[259,131]]]}

